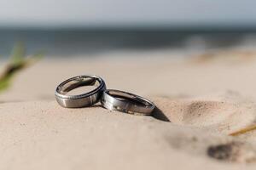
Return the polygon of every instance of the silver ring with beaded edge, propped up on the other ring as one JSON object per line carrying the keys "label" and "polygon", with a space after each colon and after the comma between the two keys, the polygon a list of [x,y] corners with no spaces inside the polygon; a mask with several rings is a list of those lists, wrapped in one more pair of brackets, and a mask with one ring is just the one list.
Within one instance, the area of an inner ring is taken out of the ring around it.
{"label": "silver ring with beaded edge, propped up on the other ring", "polygon": [[[66,95],[67,92],[73,90],[74,88],[79,88],[82,86],[97,87],[86,94]],[[96,104],[102,97],[102,92],[104,90],[106,90],[106,85],[101,77],[94,75],[78,76],[61,82],[61,84],[55,90],[55,98],[63,107],[79,108]]]}

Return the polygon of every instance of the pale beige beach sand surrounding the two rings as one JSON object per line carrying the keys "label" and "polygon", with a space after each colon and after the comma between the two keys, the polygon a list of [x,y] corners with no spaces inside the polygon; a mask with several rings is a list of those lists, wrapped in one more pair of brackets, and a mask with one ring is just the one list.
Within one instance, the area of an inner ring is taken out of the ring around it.
{"label": "pale beige beach sand surrounding the two rings", "polygon": [[[255,123],[256,55],[154,55],[44,59],[20,72],[0,94],[0,169],[255,169],[256,132],[230,133]],[[62,108],[56,85],[83,74],[151,99],[154,116]]]}

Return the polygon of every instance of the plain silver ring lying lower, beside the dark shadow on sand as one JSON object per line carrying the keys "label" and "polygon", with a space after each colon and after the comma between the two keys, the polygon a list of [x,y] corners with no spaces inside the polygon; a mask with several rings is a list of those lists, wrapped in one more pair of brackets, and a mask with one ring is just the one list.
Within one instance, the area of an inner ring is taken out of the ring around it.
{"label": "plain silver ring lying lower, beside the dark shadow on sand", "polygon": [[108,89],[103,92],[101,103],[108,110],[122,111],[133,115],[151,115],[154,103],[127,92]]}

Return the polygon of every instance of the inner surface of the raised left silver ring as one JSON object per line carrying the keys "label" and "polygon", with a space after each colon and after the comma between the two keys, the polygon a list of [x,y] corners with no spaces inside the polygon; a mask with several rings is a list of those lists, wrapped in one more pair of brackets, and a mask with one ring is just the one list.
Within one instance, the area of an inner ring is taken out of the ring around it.
{"label": "inner surface of the raised left silver ring", "polygon": [[74,80],[71,80],[70,82],[67,82],[60,88],[60,94],[67,94],[71,90],[83,86],[100,86],[100,83],[98,79],[95,77],[79,77]]}

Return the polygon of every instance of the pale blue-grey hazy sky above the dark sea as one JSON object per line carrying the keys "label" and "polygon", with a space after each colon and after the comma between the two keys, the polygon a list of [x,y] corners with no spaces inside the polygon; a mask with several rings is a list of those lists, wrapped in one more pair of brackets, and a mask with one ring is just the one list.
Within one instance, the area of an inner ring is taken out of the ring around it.
{"label": "pale blue-grey hazy sky above the dark sea", "polygon": [[256,26],[253,0],[0,0],[0,27]]}

